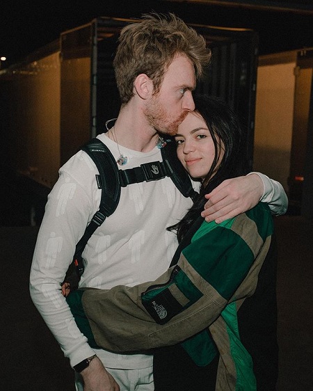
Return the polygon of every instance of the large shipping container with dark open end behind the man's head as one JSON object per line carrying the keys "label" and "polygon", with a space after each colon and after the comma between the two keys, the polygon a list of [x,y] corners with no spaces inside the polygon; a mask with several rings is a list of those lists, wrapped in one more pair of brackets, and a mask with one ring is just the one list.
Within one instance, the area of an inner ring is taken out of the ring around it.
{"label": "large shipping container with dark open end behind the man's head", "polygon": [[[1,173],[29,196],[30,210],[45,203],[58,168],[118,115],[112,61],[129,22],[136,20],[99,17],[0,72]],[[212,51],[197,90],[222,97],[239,113],[252,167],[257,33],[191,26]]]}

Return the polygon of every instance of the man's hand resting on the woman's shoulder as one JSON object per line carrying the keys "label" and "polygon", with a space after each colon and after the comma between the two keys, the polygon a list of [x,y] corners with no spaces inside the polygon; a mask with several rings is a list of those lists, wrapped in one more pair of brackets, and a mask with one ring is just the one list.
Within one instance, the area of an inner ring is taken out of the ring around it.
{"label": "man's hand resting on the woman's shoulder", "polygon": [[255,207],[264,193],[262,179],[257,174],[226,179],[207,194],[209,201],[204,205],[201,216],[206,221],[222,223]]}

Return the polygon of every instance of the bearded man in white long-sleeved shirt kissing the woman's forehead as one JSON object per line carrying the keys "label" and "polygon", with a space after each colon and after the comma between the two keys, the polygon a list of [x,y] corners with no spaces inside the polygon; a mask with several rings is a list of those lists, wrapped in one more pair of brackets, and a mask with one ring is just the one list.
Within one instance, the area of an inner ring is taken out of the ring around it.
{"label": "bearded man in white long-sleeved shirt kissing the woman's forehead", "polygon": [[[159,133],[175,134],[193,111],[196,77],[209,58],[204,38],[174,15],[146,15],[122,30],[113,63],[122,106],[113,127],[98,136],[120,168],[161,160],[156,147],[162,144]],[[95,175],[95,165],[82,151],[61,168],[35,246],[31,297],[79,372],[77,390],[153,390],[152,356],[91,349],[61,294],[75,245],[99,208],[101,190]],[[210,195],[211,204],[204,213],[211,214],[209,218],[229,218],[232,209],[235,214],[243,212],[243,207],[256,205],[262,195],[264,201],[278,200],[276,212],[284,209],[279,201],[281,192],[284,198],[281,186],[262,179],[249,175],[222,184]],[[177,223],[189,207],[191,200],[168,177],[123,188],[118,208],[84,250],[86,269],[80,286],[110,289],[157,278],[168,268],[177,246],[175,234],[166,227]]]}

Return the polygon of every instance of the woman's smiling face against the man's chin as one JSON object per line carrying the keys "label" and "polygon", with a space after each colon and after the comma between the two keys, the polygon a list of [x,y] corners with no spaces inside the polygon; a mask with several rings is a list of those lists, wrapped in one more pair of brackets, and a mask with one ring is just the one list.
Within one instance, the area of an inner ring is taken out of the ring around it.
{"label": "woman's smiling face against the man's chin", "polygon": [[[215,157],[214,143],[202,116],[193,111],[179,125],[175,136],[177,156],[193,178],[207,176]],[[220,153],[223,157],[223,151]]]}

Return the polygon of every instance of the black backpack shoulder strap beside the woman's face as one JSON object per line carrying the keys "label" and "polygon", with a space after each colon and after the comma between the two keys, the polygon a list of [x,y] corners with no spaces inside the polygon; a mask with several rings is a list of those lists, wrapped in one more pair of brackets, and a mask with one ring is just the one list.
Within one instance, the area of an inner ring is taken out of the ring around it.
{"label": "black backpack shoulder strap beside the woman's face", "polygon": [[161,148],[161,154],[168,170],[168,176],[184,197],[190,197],[195,201],[198,193],[193,189],[191,179],[177,157],[175,141],[173,139],[166,141],[166,146]]}

